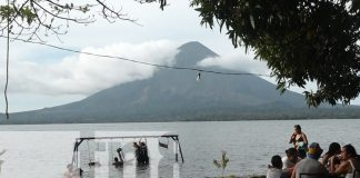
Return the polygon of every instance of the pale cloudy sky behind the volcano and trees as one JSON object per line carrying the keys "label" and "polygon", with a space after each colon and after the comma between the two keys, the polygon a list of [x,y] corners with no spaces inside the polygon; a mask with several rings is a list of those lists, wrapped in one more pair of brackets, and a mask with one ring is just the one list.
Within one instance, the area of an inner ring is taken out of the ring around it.
{"label": "pale cloudy sky behind the volcano and trees", "polygon": [[[226,31],[200,26],[189,1],[169,0],[164,10],[158,3],[120,2],[123,12],[137,23],[97,18],[83,26],[69,23],[67,34],[43,38],[49,44],[159,63],[173,63],[178,47],[199,41],[220,58],[204,59],[199,67],[219,66],[237,71],[269,75],[264,62],[253,53],[234,49]],[[118,6],[118,4],[117,4]],[[0,89],[6,83],[6,39],[0,38]],[[118,59],[79,55],[21,41],[10,43],[9,111],[24,111],[81,100],[102,89],[151,77],[158,69]],[[186,72],[186,71],[184,71]],[[274,82],[273,79],[266,78]],[[311,87],[311,85],[309,86]],[[301,92],[301,89],[292,90]],[[4,97],[0,98],[4,112]]]}

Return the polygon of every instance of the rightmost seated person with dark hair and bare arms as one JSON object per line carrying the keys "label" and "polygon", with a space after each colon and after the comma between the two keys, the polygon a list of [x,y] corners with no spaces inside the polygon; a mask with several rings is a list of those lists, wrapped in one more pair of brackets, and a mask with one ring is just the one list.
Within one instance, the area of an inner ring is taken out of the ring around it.
{"label": "rightmost seated person with dark hair and bare arms", "polygon": [[353,146],[346,145],[341,148],[341,159],[343,161],[339,167],[336,167],[332,159],[330,160],[330,172],[346,175],[346,178],[360,178],[360,157]]}

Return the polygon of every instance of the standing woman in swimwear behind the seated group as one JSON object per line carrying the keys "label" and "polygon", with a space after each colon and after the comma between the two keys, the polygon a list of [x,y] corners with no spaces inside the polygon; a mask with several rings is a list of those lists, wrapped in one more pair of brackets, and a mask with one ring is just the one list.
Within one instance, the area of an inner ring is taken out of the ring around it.
{"label": "standing woman in swimwear behind the seated group", "polygon": [[308,138],[307,135],[301,131],[300,125],[294,126],[294,132],[291,135],[289,144],[293,144],[301,159],[307,157]]}

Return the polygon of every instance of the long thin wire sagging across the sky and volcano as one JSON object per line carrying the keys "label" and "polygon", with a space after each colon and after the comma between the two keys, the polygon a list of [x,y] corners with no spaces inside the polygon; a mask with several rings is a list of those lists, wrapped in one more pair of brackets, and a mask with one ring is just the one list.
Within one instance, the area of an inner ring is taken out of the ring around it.
{"label": "long thin wire sagging across the sky and volcano", "polygon": [[[0,36],[1,38],[6,38],[4,36]],[[74,50],[74,49],[69,49],[69,48],[63,48],[54,44],[49,44],[44,42],[37,42],[37,41],[29,41],[24,39],[19,39],[19,38],[10,38],[11,40],[17,40],[17,41],[22,41],[26,43],[34,43],[34,44],[41,44],[46,47],[51,47],[54,49],[63,50],[63,51],[69,51],[69,52],[74,52],[74,53],[82,53],[82,55],[88,55],[88,56],[94,56],[94,57],[100,57],[100,58],[110,58],[110,59],[119,59],[123,61],[129,61],[133,63],[140,63],[140,65],[146,65],[146,66],[152,66],[152,67],[158,67],[158,68],[167,68],[167,69],[176,69],[176,70],[191,70],[191,71],[198,71],[198,72],[207,72],[207,73],[216,73],[216,75],[232,75],[232,76],[243,76],[243,75],[252,75],[252,76],[261,76],[261,77],[270,77],[269,75],[261,75],[261,73],[251,73],[251,72],[222,72],[222,71],[216,71],[216,70],[207,70],[207,69],[200,69],[200,68],[189,68],[189,67],[176,67],[176,66],[168,66],[168,65],[158,65],[158,63],[150,63],[150,62],[143,62],[139,60],[133,60],[129,58],[123,58],[123,57],[117,57],[117,56],[109,56],[109,55],[99,55],[99,53],[93,53],[93,52],[86,52],[86,51],[80,51],[80,50]]]}

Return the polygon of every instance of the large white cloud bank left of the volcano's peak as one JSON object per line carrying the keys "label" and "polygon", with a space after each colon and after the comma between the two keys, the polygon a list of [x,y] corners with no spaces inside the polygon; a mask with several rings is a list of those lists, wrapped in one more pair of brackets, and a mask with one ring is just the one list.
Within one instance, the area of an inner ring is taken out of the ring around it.
{"label": "large white cloud bank left of the volcano's peak", "polygon": [[[177,48],[174,42],[158,40],[88,47],[82,51],[169,65],[173,62]],[[150,66],[82,53],[51,63],[19,59],[11,59],[10,62],[9,91],[12,93],[90,95],[116,85],[149,78],[157,70]],[[1,81],[4,81],[4,71],[0,71]]]}

